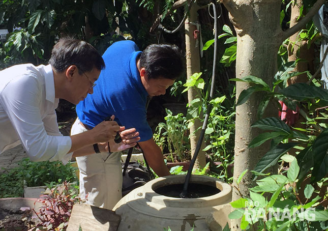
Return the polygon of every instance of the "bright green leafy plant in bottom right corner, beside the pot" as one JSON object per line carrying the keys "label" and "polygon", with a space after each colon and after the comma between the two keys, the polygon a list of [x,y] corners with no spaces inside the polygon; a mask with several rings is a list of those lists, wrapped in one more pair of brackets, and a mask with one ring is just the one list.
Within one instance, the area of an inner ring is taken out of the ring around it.
{"label": "bright green leafy plant in bottom right corner, beside the pot", "polygon": [[[242,218],[240,227],[243,230],[327,230],[328,210],[320,205],[321,196],[309,184],[304,190],[306,200],[302,201],[297,187],[300,166],[293,156],[284,159],[289,161],[289,169],[284,174],[252,171],[265,178],[256,181],[257,186],[250,189],[250,198],[240,193],[241,198],[230,203],[235,210],[229,218]],[[237,185],[246,171],[237,179]]]}

